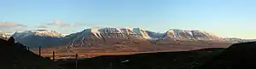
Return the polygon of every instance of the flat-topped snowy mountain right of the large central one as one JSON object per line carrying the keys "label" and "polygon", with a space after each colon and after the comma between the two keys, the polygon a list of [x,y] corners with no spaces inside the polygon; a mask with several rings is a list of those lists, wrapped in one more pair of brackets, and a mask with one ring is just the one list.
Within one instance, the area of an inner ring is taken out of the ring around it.
{"label": "flat-topped snowy mountain right of the large central one", "polygon": [[164,39],[174,40],[218,40],[219,37],[209,32],[198,30],[178,30],[170,29],[166,32]]}

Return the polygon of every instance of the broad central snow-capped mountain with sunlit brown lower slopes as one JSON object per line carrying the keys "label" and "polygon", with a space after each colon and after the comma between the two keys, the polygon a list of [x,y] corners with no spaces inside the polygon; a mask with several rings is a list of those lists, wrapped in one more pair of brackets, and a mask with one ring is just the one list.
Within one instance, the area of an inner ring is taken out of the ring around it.
{"label": "broad central snow-capped mountain with sunlit brown lower slopes", "polygon": [[148,33],[140,28],[93,28],[73,33],[62,41],[69,46],[102,46],[115,43],[134,43],[136,40],[150,38]]}

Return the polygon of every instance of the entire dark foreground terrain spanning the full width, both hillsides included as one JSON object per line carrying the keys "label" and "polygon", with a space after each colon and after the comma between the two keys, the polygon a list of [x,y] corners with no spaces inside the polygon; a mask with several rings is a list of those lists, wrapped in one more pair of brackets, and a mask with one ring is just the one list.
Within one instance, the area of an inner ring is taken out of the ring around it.
{"label": "entire dark foreground terrain spanning the full width, both hillsides included", "polygon": [[[0,69],[76,69],[73,59],[55,62],[20,43],[0,39]],[[236,43],[228,49],[197,49],[137,55],[104,55],[78,60],[78,69],[255,69],[256,43]]]}

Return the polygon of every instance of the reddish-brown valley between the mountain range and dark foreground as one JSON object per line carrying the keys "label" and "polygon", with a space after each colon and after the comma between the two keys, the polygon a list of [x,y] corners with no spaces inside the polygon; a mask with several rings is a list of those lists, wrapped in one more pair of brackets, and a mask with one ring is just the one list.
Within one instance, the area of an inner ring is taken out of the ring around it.
{"label": "reddish-brown valley between the mountain range and dark foreground", "polygon": [[[194,44],[193,44],[194,43]],[[228,48],[231,43],[196,43],[186,42],[182,44],[166,44],[166,45],[140,45],[129,47],[93,47],[93,48],[43,48],[42,56],[52,57],[52,51],[55,51],[55,59],[75,58],[78,54],[79,58],[93,58],[102,55],[134,55],[143,53],[155,52],[176,52],[176,51],[189,51],[195,49],[208,49],[208,48]],[[32,52],[38,54],[38,48],[32,49]]]}

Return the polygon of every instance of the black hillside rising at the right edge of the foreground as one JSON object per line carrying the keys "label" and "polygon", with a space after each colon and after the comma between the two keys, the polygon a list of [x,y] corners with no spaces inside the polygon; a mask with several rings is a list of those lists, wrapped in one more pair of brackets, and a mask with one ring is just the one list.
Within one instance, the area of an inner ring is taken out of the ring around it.
{"label": "black hillside rising at the right edge of the foreground", "polygon": [[253,69],[256,62],[256,42],[236,43],[201,69]]}

